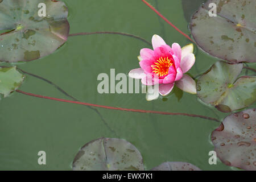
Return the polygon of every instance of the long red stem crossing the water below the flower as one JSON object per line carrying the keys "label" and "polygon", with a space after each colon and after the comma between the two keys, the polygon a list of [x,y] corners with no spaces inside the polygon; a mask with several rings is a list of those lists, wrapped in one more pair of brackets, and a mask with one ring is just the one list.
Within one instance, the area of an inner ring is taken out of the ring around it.
{"label": "long red stem crossing the water below the flower", "polygon": [[154,111],[154,110],[127,109],[127,108],[121,108],[121,107],[112,107],[112,106],[104,106],[104,105],[97,105],[97,104],[89,104],[89,103],[86,103],[86,102],[69,101],[69,100],[64,100],[64,99],[60,99],[60,98],[40,96],[40,95],[33,94],[33,93],[23,92],[22,90],[16,90],[16,92],[25,94],[27,96],[32,96],[32,97],[38,97],[38,98],[44,98],[44,99],[48,99],[48,100],[54,100],[54,101],[59,101],[59,102],[67,102],[67,103],[79,104],[79,105],[86,105],[86,106],[92,106],[92,107],[100,107],[100,108],[104,108],[104,109],[131,111],[131,112],[135,112],[135,113],[152,113],[152,114],[163,114],[163,115],[184,115],[184,116],[188,116],[188,117],[203,118],[203,119],[209,119],[209,120],[215,121],[215,122],[220,122],[216,118],[211,118],[211,117],[207,117],[207,116],[204,116],[204,115],[187,114],[187,113],[169,113],[169,112]]}

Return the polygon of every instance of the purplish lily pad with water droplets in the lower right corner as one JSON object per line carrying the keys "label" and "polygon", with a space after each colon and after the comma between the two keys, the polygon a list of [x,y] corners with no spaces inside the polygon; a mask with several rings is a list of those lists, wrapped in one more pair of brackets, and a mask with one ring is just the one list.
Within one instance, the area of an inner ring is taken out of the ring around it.
{"label": "purplish lily pad with water droplets in the lower right corner", "polygon": [[230,114],[212,133],[218,158],[228,166],[256,170],[256,112]]}

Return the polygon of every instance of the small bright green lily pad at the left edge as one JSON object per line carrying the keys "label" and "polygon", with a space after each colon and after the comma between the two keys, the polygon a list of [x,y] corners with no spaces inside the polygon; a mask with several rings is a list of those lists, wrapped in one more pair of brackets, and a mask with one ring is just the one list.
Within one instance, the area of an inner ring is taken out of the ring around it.
{"label": "small bright green lily pad at the left edge", "polygon": [[0,94],[3,97],[9,96],[22,84],[24,76],[15,67],[0,68]]}

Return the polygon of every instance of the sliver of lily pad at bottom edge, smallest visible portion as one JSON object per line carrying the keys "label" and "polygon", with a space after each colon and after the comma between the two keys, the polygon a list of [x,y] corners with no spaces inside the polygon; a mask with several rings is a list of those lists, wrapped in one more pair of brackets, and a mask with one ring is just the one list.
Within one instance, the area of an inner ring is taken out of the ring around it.
{"label": "sliver of lily pad at bottom edge, smallest visible portion", "polygon": [[190,163],[165,162],[152,168],[151,171],[201,171],[201,169]]}

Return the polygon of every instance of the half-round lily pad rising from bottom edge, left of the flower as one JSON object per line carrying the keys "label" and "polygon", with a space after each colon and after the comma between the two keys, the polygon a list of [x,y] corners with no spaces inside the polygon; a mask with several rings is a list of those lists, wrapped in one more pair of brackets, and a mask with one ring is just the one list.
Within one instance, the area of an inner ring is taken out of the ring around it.
{"label": "half-round lily pad rising from bottom edge, left of the flower", "polygon": [[85,144],[73,161],[74,171],[143,171],[141,153],[123,139],[100,138]]}

